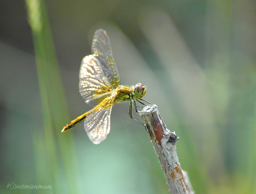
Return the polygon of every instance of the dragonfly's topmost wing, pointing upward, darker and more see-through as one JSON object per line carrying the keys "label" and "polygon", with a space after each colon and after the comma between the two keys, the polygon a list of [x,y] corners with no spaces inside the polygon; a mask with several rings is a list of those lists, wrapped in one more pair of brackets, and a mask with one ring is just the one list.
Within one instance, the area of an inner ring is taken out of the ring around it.
{"label": "dragonfly's topmost wing, pointing upward, darker and more see-through", "polygon": [[104,75],[108,82],[116,89],[120,83],[119,73],[112,55],[108,34],[105,30],[96,30],[92,40],[92,54],[100,59]]}

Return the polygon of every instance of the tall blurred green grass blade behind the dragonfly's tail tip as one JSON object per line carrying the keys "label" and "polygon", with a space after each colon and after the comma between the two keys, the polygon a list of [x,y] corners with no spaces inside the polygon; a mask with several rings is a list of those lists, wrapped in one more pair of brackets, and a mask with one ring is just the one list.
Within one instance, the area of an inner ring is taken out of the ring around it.
{"label": "tall blurred green grass blade behind the dragonfly's tail tip", "polygon": [[[42,101],[44,139],[50,162],[54,193],[82,193],[76,148],[72,132],[60,133],[69,121],[68,107],[54,50],[52,33],[44,1],[26,0],[31,26],[40,95]],[[60,157],[61,159],[60,160]],[[62,168],[66,182],[63,183]]]}

